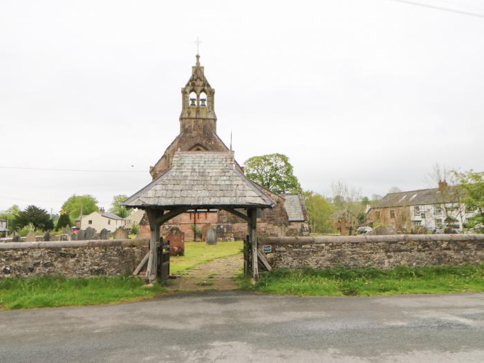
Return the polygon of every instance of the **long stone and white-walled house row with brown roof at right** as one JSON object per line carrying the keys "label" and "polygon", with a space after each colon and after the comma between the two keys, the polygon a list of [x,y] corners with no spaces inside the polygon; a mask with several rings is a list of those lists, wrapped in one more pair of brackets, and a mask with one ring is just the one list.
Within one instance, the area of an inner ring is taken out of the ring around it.
{"label": "long stone and white-walled house row with brown roof at right", "polygon": [[438,188],[389,193],[366,212],[373,225],[393,225],[398,232],[416,232],[421,227],[441,232],[445,227],[463,230],[476,211],[466,210],[463,193],[440,182]]}

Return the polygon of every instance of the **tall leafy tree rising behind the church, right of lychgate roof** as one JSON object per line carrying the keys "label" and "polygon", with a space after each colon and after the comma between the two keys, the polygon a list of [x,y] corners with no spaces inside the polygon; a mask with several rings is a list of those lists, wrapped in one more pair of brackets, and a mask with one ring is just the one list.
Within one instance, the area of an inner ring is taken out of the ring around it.
{"label": "tall leafy tree rising behind the church, right of lychgate roof", "polygon": [[299,193],[301,185],[293,174],[289,158],[281,153],[245,160],[245,175],[276,194]]}

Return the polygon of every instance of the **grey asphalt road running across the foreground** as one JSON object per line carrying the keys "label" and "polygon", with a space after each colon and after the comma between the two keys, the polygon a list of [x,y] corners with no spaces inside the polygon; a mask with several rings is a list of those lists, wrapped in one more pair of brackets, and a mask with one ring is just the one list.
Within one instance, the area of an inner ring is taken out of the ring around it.
{"label": "grey asphalt road running across the foreground", "polygon": [[0,362],[484,362],[484,294],[232,291],[3,311]]}

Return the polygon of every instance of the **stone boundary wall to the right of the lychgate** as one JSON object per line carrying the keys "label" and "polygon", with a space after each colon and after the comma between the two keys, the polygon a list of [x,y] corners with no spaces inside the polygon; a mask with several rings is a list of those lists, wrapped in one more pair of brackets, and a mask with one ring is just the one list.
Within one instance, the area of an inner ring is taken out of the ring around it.
{"label": "stone boundary wall to the right of the lychgate", "polygon": [[272,247],[266,257],[273,268],[484,263],[484,234],[259,237],[260,250],[263,245]]}

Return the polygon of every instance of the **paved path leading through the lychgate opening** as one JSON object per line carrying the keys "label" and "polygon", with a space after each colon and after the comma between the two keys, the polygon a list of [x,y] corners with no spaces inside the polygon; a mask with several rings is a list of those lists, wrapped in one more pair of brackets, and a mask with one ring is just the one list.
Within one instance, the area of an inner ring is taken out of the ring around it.
{"label": "paved path leading through the lychgate opening", "polygon": [[235,290],[234,277],[243,272],[243,254],[216,259],[169,279],[169,290]]}

